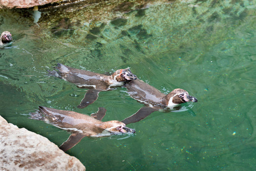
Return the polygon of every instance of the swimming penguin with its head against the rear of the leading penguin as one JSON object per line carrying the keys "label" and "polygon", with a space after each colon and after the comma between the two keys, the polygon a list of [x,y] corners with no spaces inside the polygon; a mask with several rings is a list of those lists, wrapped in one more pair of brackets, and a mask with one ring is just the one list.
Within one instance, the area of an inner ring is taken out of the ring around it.
{"label": "swimming penguin with its head against the rear of the leading penguin", "polygon": [[137,76],[132,74],[129,68],[117,70],[110,76],[86,70],[78,70],[60,63],[58,63],[57,69],[59,72],[55,72],[55,76],[67,82],[74,83],[79,88],[88,88],[78,108],[84,108],[94,103],[100,91],[108,91],[113,89],[113,87],[123,86],[125,82],[137,79]]}

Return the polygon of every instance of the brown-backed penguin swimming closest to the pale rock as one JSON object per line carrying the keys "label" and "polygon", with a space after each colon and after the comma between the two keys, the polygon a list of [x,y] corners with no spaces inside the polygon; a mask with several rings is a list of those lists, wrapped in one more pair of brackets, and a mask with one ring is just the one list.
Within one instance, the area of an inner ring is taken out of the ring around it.
{"label": "brown-backed penguin swimming closest to the pale rock", "polygon": [[30,113],[30,119],[43,120],[60,129],[71,132],[68,140],[59,146],[64,152],[78,144],[83,137],[104,137],[123,133],[135,133],[134,129],[125,127],[124,123],[117,120],[101,121],[106,109],[99,108],[91,116],[73,111],[62,111],[54,108],[39,106],[39,111]]}

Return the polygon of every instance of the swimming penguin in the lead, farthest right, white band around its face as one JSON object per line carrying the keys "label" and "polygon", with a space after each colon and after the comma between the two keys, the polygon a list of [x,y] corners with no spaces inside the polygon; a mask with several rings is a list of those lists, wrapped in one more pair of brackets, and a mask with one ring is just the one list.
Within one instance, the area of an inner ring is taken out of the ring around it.
{"label": "swimming penguin in the lead, farthest right, white band around its face", "polygon": [[173,109],[178,104],[188,101],[197,102],[197,99],[190,96],[187,91],[176,88],[168,95],[160,92],[155,87],[143,82],[142,80],[132,80],[125,84],[128,94],[135,100],[146,105],[142,107],[132,116],[127,117],[121,122],[125,124],[136,123],[159,109]]}

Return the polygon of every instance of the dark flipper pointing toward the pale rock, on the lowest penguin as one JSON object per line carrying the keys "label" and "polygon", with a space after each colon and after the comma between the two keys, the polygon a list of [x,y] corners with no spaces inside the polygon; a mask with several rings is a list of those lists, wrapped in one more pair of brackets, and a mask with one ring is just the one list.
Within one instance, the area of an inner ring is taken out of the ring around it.
{"label": "dark flipper pointing toward the pale rock, on the lowest penguin", "polygon": [[83,137],[90,136],[90,135],[85,135],[82,133],[72,133],[70,137],[68,137],[67,141],[62,143],[62,145],[59,146],[59,149],[63,150],[63,152],[66,152],[67,150],[71,149],[73,146],[78,144]]}

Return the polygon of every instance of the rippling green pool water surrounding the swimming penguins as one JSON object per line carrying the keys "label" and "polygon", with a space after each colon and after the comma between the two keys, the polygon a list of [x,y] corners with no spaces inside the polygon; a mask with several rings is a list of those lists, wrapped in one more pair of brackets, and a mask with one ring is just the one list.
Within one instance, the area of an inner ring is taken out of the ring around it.
{"label": "rippling green pool water surrounding the swimming penguins", "polygon": [[105,107],[103,121],[123,120],[143,104],[117,88],[78,109],[86,89],[47,70],[58,62],[100,73],[131,67],[164,93],[186,89],[198,99],[185,104],[196,116],[154,112],[128,125],[134,136],[85,137],[67,153],[87,170],[255,170],[255,16],[256,1],[180,1],[64,29],[68,20],[44,28],[0,11],[0,30],[15,40],[0,50],[0,114],[60,145],[66,131],[26,114],[38,105],[87,114]]}

